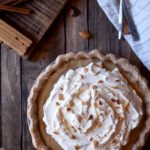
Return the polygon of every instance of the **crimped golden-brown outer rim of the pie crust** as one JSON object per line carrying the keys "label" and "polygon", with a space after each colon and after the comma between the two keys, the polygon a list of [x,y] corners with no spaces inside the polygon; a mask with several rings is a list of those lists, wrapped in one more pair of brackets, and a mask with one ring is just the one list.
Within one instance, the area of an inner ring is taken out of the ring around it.
{"label": "crimped golden-brown outer rim of the pie crust", "polygon": [[[64,62],[68,62],[72,60],[80,59],[80,58],[98,58],[102,62],[105,60],[111,61],[113,64],[117,65],[117,67],[126,72],[132,74],[132,76],[135,76],[134,79],[136,82],[140,83],[141,93],[144,93],[144,100],[145,104],[147,105],[147,108],[150,108],[150,89],[148,87],[147,80],[141,76],[140,71],[136,66],[131,65],[126,59],[119,58],[117,59],[113,54],[107,54],[103,55],[99,50],[92,50],[89,53],[80,51],[78,53],[67,53],[64,55],[59,55],[56,58],[56,61],[54,64],[50,64],[46,67],[45,70],[42,71],[42,73],[38,76],[37,80],[33,84],[33,87],[31,89],[29,98],[28,98],[28,108],[27,108],[27,117],[29,120],[29,130],[32,137],[33,145],[36,149],[39,150],[48,150],[49,148],[44,144],[44,141],[42,140],[39,129],[38,129],[38,116],[37,116],[37,96],[40,92],[41,87],[43,87],[46,80],[49,78],[50,74],[52,74],[55,70],[59,69],[60,65]],[[134,81],[134,82],[135,82]],[[145,144],[145,136],[148,132],[150,132],[150,109],[146,110],[146,113],[148,115],[148,119],[145,123],[145,129],[142,133],[140,133],[138,141],[134,144],[134,149],[139,149]]]}

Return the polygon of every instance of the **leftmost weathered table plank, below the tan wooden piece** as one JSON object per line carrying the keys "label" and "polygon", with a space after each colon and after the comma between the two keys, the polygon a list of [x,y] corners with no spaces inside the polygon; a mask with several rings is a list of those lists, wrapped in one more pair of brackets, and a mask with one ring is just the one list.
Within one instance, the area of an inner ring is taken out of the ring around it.
{"label": "leftmost weathered table plank, below the tan wooden piece", "polygon": [[21,87],[20,58],[2,44],[1,49],[2,145],[20,150]]}

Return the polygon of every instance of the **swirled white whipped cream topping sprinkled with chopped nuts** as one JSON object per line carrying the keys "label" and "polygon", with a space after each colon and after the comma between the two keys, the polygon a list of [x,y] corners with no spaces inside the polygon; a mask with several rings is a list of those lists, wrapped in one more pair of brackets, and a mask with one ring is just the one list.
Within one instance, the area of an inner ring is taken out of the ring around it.
{"label": "swirled white whipped cream topping sprinkled with chopped nuts", "polygon": [[117,68],[68,70],[44,105],[46,132],[65,150],[118,150],[142,117],[142,100]]}

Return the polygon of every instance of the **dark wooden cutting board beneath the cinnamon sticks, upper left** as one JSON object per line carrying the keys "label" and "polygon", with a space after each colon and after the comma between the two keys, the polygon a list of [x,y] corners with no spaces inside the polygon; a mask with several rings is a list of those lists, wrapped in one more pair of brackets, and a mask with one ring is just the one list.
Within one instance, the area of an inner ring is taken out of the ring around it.
{"label": "dark wooden cutting board beneath the cinnamon sticks, upper left", "polygon": [[[0,0],[1,2],[1,0]],[[30,15],[21,15],[15,13],[1,13],[1,18],[7,22],[11,27],[17,29],[20,34],[24,35],[30,42],[31,46],[25,49],[23,52],[19,52],[18,47],[12,47],[18,52],[19,55],[29,55],[32,49],[39,43],[42,37],[45,35],[46,31],[52,25],[61,9],[66,4],[67,0],[31,0],[21,7],[29,8],[33,11]],[[3,29],[0,28],[2,32]],[[9,29],[10,30],[10,29]],[[14,30],[13,30],[14,31]],[[16,32],[17,32],[16,31]],[[15,32],[15,34],[16,34]],[[7,30],[7,34],[8,34]],[[6,35],[6,34],[4,34]],[[15,40],[13,42],[18,42],[16,35],[14,35]],[[9,44],[9,41],[5,42],[11,47],[12,44]],[[13,45],[18,45],[17,43]]]}

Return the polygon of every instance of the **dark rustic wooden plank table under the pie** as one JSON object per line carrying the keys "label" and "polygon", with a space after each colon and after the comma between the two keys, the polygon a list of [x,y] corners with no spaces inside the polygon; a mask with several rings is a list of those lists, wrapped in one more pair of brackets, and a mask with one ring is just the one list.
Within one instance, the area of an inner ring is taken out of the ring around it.
{"label": "dark rustic wooden plank table under the pie", "polygon": [[[69,15],[71,6],[80,9],[81,14],[78,17]],[[90,31],[93,38],[81,39],[80,31]],[[1,44],[0,147],[6,150],[34,149],[28,131],[26,110],[27,98],[35,79],[59,54],[95,48],[127,58],[150,81],[150,72],[126,41],[118,41],[117,31],[96,0],[70,0],[34,51],[32,61],[20,58],[6,45]],[[42,56],[45,57],[40,59]],[[150,149],[150,138],[146,147]]]}

